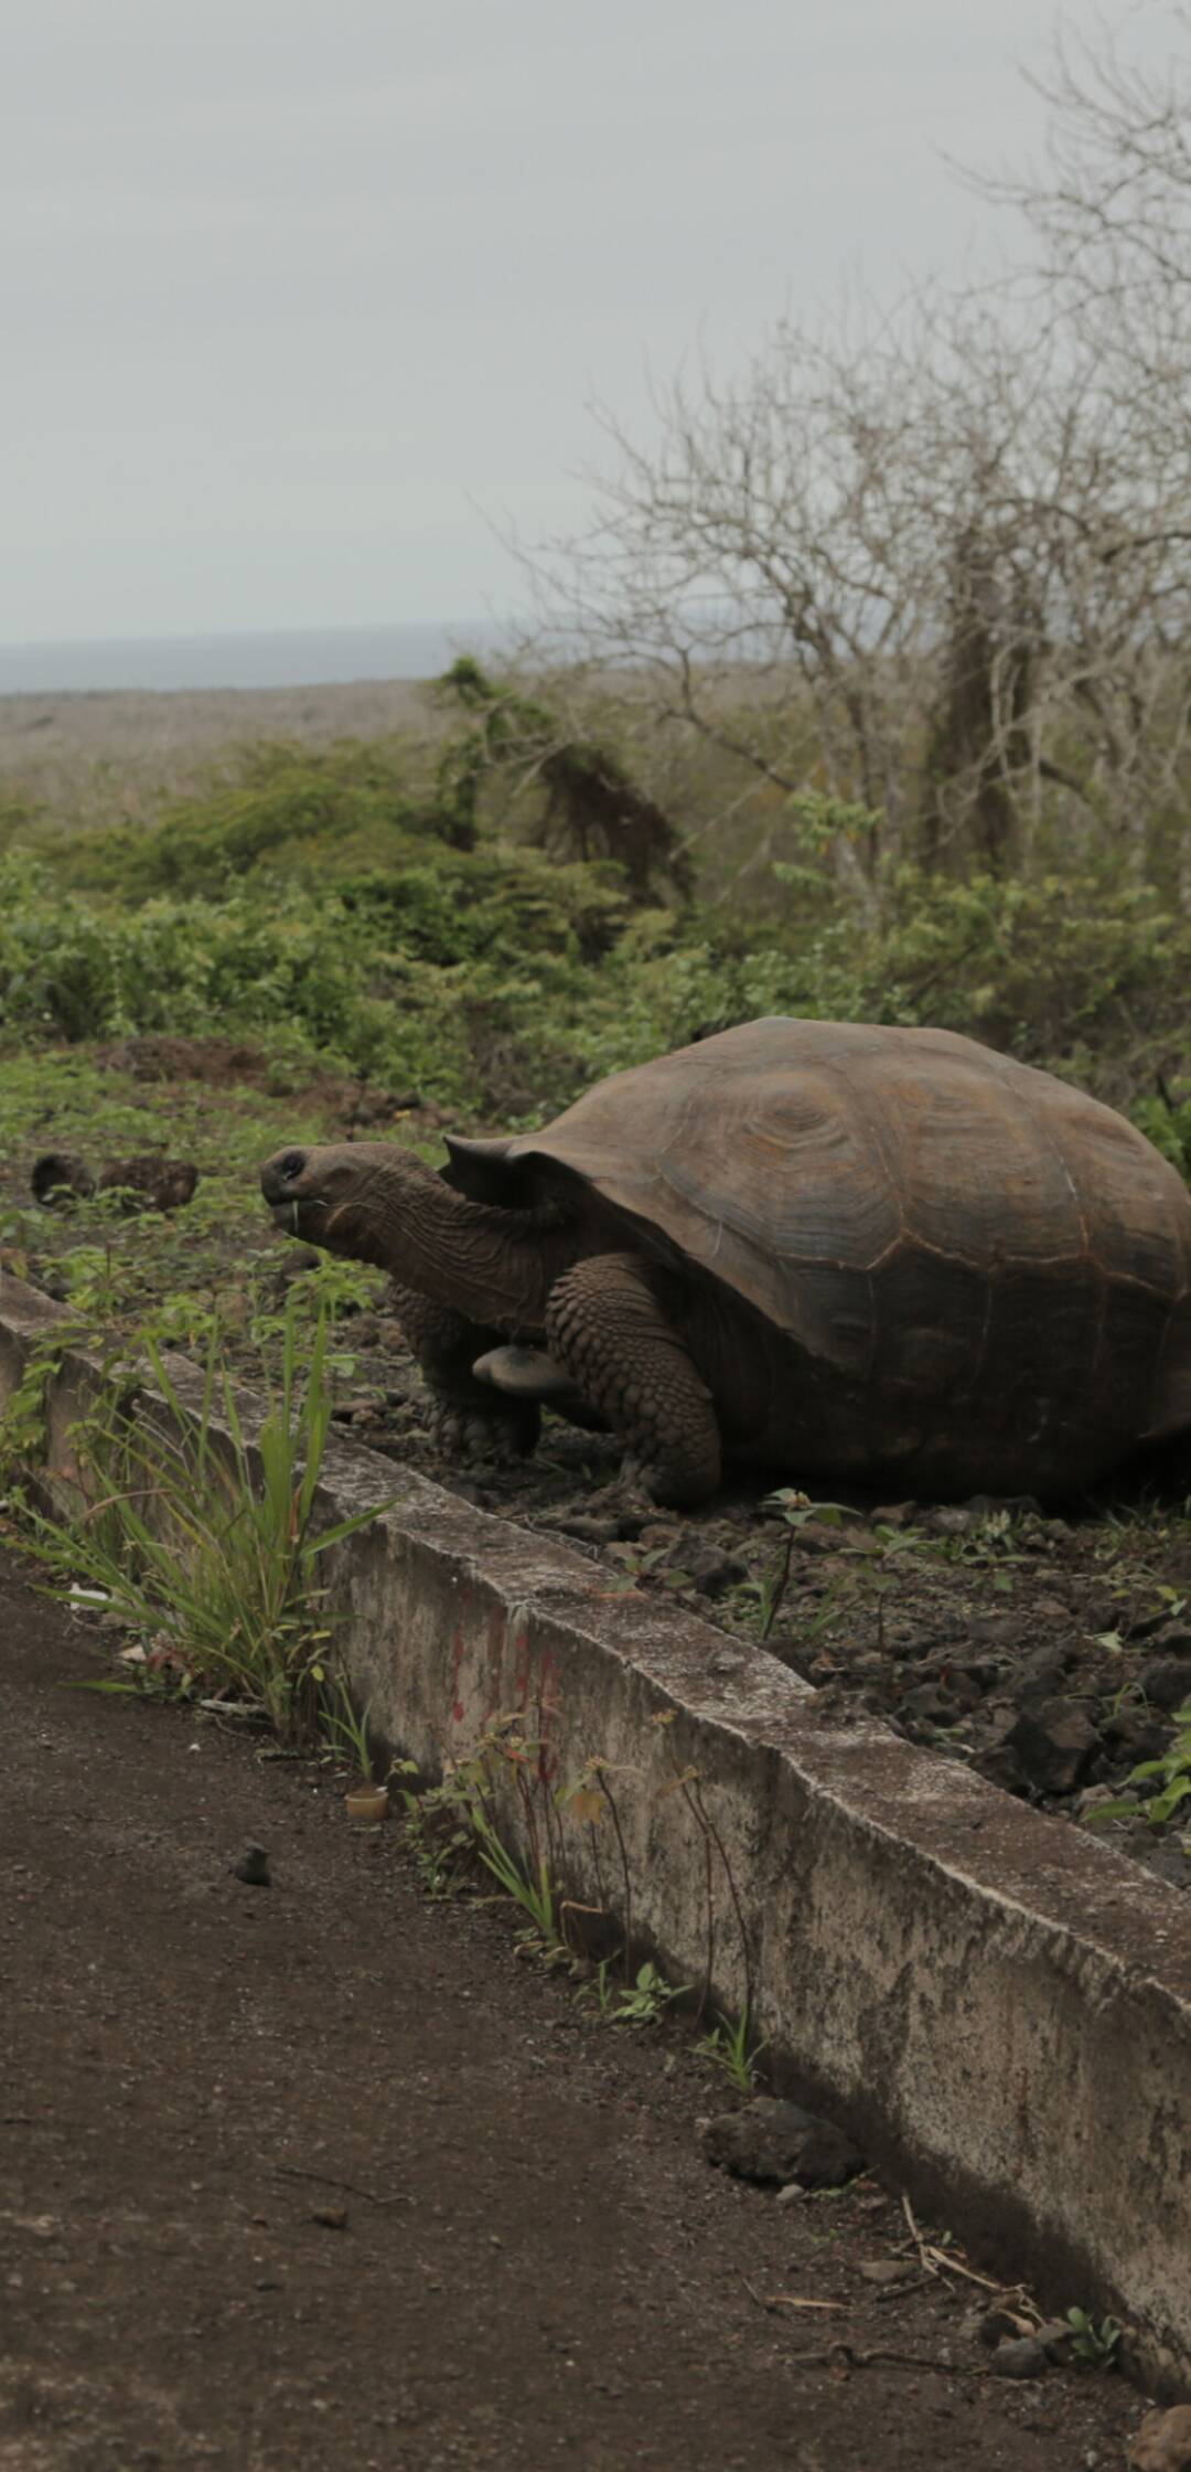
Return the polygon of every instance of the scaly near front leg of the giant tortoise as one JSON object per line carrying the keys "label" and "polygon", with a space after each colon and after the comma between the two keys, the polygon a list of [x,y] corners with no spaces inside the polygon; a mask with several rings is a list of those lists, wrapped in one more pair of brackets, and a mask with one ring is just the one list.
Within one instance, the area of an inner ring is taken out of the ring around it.
{"label": "scaly near front leg of the giant tortoise", "polygon": [[712,1392],[635,1253],[593,1253],[563,1271],[546,1305],[546,1345],[620,1434],[657,1503],[684,1508],[717,1491]]}

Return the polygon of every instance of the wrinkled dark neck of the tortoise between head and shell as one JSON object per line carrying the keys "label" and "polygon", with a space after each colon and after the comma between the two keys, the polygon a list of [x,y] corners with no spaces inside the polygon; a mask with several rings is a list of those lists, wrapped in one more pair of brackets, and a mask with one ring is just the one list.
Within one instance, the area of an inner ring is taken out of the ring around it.
{"label": "wrinkled dark neck of the tortoise between head and shell", "polygon": [[390,1152],[358,1189],[306,1219],[314,1243],[388,1271],[403,1288],[509,1335],[541,1330],[546,1298],[573,1261],[573,1236],[553,1201],[504,1211],[467,1201],[423,1159]]}

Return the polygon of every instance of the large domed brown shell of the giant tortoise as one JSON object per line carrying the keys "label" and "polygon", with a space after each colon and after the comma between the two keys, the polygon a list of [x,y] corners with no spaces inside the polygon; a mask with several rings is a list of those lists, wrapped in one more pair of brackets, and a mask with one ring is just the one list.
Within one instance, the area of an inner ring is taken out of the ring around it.
{"label": "large domed brown shell of the giant tortoise", "polygon": [[781,1332],[778,1456],[813,1416],[818,1466],[1023,1491],[1191,1431],[1191,1194],[1112,1107],[971,1038],[751,1021],[450,1152],[482,1199],[581,1179]]}

